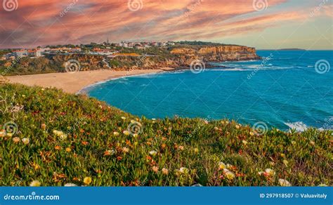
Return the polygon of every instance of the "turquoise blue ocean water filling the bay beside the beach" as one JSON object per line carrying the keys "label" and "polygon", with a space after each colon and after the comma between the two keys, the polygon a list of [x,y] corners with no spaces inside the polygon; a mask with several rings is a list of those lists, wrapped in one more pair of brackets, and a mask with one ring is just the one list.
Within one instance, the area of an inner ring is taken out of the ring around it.
{"label": "turquoise blue ocean water filling the bay beside the beach", "polygon": [[[263,60],[126,77],[88,90],[148,118],[235,119],[282,130],[333,128],[333,51],[258,51]],[[317,65],[316,65],[317,63]]]}

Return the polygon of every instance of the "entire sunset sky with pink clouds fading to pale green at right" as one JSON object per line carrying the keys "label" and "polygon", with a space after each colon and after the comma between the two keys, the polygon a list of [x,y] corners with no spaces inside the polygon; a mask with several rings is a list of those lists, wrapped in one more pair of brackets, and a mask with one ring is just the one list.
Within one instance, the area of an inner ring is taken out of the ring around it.
{"label": "entire sunset sky with pink clouds fading to pale green at right", "polygon": [[333,48],[333,0],[3,0],[0,48],[214,41]]}

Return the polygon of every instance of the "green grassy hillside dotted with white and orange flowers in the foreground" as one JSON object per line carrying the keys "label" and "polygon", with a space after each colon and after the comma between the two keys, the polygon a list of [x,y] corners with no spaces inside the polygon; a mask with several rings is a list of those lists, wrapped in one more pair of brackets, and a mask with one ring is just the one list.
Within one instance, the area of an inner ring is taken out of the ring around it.
{"label": "green grassy hillside dotted with white and orange flowers in the foreground", "polygon": [[0,85],[0,110],[1,186],[332,185],[332,131],[138,119],[84,95],[13,84]]}

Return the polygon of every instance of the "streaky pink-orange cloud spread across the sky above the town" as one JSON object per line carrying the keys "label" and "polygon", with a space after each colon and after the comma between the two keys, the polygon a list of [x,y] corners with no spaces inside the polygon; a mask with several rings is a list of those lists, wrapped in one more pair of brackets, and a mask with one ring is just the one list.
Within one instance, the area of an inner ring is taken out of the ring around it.
{"label": "streaky pink-orange cloud spread across the sky above the town", "polygon": [[[86,44],[107,37],[110,41],[214,39],[256,32],[303,16],[296,11],[255,11],[249,0],[131,1],[139,4],[125,0],[18,1],[16,11],[0,12],[0,48]],[[270,0],[268,8],[285,1]]]}

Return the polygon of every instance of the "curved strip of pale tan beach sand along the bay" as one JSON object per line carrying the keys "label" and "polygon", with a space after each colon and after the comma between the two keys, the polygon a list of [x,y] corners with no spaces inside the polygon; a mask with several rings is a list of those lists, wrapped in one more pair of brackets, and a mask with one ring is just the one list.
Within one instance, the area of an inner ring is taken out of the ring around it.
{"label": "curved strip of pale tan beach sand along the bay", "polygon": [[156,70],[130,70],[130,71],[115,71],[115,70],[93,70],[81,72],[61,72],[48,74],[32,74],[22,76],[6,77],[12,83],[24,84],[27,86],[42,86],[55,87],[63,89],[67,93],[77,93],[81,89],[91,84],[96,84],[100,81],[108,79],[117,79],[138,74],[151,74],[174,70],[170,67],[163,67]]}

